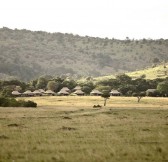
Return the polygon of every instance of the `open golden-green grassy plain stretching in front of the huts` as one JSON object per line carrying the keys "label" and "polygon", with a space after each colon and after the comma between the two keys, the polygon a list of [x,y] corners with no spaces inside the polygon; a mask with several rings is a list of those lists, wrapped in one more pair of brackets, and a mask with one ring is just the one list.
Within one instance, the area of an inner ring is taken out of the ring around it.
{"label": "open golden-green grassy plain stretching in front of the huts", "polygon": [[168,162],[168,99],[32,97],[0,108],[1,162]]}

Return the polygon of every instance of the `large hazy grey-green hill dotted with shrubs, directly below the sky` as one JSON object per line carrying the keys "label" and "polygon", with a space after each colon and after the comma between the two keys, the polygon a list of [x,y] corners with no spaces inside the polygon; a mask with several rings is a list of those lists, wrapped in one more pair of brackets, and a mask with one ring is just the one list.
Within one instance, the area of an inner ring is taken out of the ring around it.
{"label": "large hazy grey-green hill dotted with shrubs, directly below the sky", "polygon": [[40,75],[103,76],[168,60],[168,40],[117,40],[0,29],[0,78]]}

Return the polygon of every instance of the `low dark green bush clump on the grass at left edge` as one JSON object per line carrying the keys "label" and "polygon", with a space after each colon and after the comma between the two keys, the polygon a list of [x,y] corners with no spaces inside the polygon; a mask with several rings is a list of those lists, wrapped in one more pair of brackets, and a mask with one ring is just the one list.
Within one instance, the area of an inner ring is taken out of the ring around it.
{"label": "low dark green bush clump on the grass at left edge", "polygon": [[0,97],[1,107],[37,107],[37,103],[33,101],[17,101],[15,98]]}

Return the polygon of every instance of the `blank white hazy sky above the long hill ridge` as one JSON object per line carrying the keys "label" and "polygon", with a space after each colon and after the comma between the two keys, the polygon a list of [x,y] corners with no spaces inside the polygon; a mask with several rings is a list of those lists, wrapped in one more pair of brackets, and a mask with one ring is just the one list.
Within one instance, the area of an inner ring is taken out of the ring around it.
{"label": "blank white hazy sky above the long hill ridge", "polygon": [[0,0],[0,28],[168,39],[168,0]]}

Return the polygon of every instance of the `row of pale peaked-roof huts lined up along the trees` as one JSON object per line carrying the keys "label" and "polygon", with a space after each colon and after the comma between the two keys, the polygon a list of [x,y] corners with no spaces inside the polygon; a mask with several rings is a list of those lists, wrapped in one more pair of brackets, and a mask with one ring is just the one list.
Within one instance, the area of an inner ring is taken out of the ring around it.
{"label": "row of pale peaked-roof huts lined up along the trees", "polygon": [[[54,95],[59,95],[59,96],[68,96],[68,95],[77,95],[77,96],[84,96],[85,93],[82,91],[80,86],[76,86],[73,90],[70,90],[68,87],[63,87],[58,93],[53,92],[52,90],[47,90],[44,91],[43,89],[35,90],[35,91],[30,91],[27,90],[23,93],[20,93],[18,91],[13,91],[12,92],[13,96],[54,96]],[[90,92],[91,96],[101,96],[102,92],[100,92],[97,89],[94,89]],[[110,92],[111,96],[120,96],[121,93],[118,92],[117,90],[112,90]]]}

